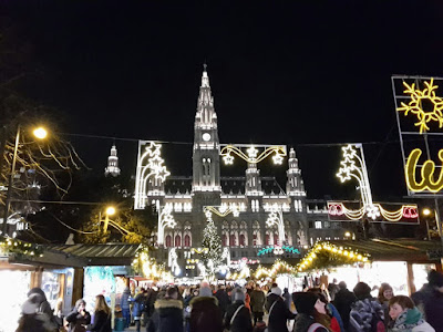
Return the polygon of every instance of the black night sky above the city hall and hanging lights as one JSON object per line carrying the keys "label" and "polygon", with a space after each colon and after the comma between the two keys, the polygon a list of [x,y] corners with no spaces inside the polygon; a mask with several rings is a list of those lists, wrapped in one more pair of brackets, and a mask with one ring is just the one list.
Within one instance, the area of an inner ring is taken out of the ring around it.
{"label": "black night sky above the city hall and hanging lights", "polygon": [[[32,50],[27,65],[39,69],[21,91],[56,110],[97,174],[113,139],[78,135],[116,137],[126,175],[136,143],[119,138],[177,142],[164,145],[166,166],[192,174],[206,62],[222,143],[296,147],[309,198],[353,198],[354,185],[334,176],[333,144],[370,143],[374,199],[402,199],[390,77],[443,76],[443,2],[235,2],[2,0],[0,10],[2,29],[13,27]],[[286,166],[259,167],[285,180]]]}

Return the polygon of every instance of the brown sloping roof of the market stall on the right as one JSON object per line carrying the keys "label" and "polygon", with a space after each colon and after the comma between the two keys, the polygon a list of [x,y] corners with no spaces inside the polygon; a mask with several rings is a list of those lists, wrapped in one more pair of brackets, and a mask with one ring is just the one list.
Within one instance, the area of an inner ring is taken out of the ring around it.
{"label": "brown sloping roof of the market stall on the right", "polygon": [[[440,241],[415,239],[336,240],[331,245],[369,253],[372,261],[426,262],[441,253]],[[435,258],[439,259],[439,258]]]}

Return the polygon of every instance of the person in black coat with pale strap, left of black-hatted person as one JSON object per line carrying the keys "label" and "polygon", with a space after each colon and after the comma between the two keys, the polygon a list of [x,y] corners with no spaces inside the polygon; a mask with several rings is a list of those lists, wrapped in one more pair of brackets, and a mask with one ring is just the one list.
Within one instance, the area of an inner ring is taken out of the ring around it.
{"label": "person in black coat with pale strap, left of black-hatted person", "polygon": [[278,287],[271,288],[266,299],[266,310],[269,313],[268,332],[287,332],[287,320],[296,317],[285,304],[281,298],[281,289]]}

